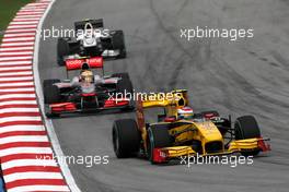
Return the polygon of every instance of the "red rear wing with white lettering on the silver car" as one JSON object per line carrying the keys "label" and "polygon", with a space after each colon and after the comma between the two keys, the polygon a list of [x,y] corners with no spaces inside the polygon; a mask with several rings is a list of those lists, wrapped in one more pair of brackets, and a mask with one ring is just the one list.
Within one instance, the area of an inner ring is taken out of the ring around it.
{"label": "red rear wing with white lettering on the silver car", "polygon": [[88,63],[90,69],[102,69],[104,73],[102,57],[67,59],[66,60],[67,77],[69,71],[81,70],[83,63]]}

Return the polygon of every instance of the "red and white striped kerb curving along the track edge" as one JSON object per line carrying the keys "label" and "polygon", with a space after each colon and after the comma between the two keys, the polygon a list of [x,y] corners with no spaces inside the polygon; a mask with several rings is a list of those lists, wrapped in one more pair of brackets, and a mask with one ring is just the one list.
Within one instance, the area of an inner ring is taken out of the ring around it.
{"label": "red and white striped kerb curving along the track edge", "polygon": [[51,158],[33,77],[36,29],[49,3],[22,8],[0,46],[0,161],[8,192],[70,191]]}

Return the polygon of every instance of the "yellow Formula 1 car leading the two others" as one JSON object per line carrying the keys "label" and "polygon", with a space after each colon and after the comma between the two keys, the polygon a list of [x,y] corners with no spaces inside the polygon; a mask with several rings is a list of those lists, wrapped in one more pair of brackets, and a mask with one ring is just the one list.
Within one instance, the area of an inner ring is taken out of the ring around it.
{"label": "yellow Formula 1 car leading the two others", "polygon": [[[194,113],[188,106],[185,89],[166,96],[139,97],[136,120],[120,119],[113,124],[116,156],[125,158],[142,153],[152,164],[160,164],[188,155],[255,156],[270,149],[254,117],[239,117],[232,125],[230,117],[221,118],[217,111]],[[155,107],[164,112],[158,116],[159,122],[147,123],[143,109]]]}

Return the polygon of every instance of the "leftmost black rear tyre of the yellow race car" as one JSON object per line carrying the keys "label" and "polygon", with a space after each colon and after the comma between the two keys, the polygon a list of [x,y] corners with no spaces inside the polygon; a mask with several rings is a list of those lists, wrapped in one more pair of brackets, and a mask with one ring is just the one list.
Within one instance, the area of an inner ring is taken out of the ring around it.
{"label": "leftmost black rear tyre of the yellow race car", "polygon": [[140,132],[134,119],[116,120],[113,125],[113,146],[117,158],[130,157],[140,148]]}

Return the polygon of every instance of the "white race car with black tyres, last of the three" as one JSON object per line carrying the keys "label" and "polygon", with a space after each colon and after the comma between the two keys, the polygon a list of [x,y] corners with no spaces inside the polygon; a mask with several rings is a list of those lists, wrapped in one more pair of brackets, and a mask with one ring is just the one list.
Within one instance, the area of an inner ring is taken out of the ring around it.
{"label": "white race car with black tyres, last of the three", "polygon": [[95,57],[126,58],[123,31],[103,28],[103,20],[84,20],[74,23],[76,38],[60,37],[57,43],[57,61],[65,65],[66,59]]}

